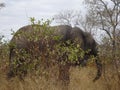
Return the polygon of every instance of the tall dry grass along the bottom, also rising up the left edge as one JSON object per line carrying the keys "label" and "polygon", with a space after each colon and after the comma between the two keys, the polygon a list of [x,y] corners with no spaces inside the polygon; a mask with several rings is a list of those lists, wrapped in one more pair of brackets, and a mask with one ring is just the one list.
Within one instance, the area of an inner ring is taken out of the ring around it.
{"label": "tall dry grass along the bottom, also rising up the left edge", "polygon": [[[36,75],[29,73],[24,81],[17,77],[8,80],[6,73],[8,70],[9,48],[7,44],[0,47],[0,90],[63,90],[64,86],[58,82],[58,66],[55,65],[47,70],[47,74]],[[102,58],[101,59],[106,59]],[[119,90],[119,79],[116,70],[107,63],[103,68],[102,77],[93,82],[96,75],[94,64],[87,67],[71,67],[69,90]],[[104,70],[105,69],[105,70]],[[120,69],[119,69],[120,70]]]}

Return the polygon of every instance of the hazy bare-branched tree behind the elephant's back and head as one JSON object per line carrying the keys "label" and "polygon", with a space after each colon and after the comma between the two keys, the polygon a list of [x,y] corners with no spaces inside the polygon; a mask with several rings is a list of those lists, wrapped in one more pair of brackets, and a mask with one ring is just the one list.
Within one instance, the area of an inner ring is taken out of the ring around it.
{"label": "hazy bare-branched tree behind the elephant's back and head", "polygon": [[[90,14],[92,13],[89,13],[89,16],[92,16]],[[95,35],[96,23],[93,21],[94,17],[89,16],[86,14],[82,15],[81,11],[65,10],[56,14],[54,19],[58,24],[77,26],[92,35]]]}

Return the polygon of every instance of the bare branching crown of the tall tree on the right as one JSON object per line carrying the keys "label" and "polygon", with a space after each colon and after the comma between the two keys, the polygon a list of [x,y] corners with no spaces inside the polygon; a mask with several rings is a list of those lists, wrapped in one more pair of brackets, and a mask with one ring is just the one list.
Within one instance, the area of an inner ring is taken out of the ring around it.
{"label": "bare branching crown of the tall tree on the right", "polygon": [[[120,1],[119,0],[86,0],[89,12],[96,26],[109,36],[115,50],[116,33],[120,30]],[[91,17],[91,16],[90,16]]]}

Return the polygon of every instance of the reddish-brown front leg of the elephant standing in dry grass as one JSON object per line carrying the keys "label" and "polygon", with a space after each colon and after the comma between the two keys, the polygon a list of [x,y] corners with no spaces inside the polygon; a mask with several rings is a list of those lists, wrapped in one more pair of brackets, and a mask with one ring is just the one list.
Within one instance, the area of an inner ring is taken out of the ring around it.
{"label": "reddish-brown front leg of the elephant standing in dry grass", "polygon": [[62,86],[62,90],[68,90],[68,85],[70,83],[70,66],[69,65],[59,65],[59,83]]}

